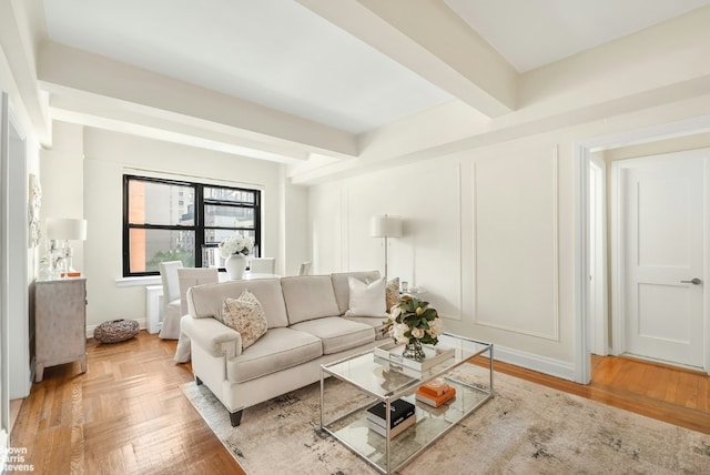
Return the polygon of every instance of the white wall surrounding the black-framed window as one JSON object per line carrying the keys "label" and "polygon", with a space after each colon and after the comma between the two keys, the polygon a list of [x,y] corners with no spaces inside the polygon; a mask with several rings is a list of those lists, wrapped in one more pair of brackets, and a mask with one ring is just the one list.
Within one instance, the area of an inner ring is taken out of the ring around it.
{"label": "white wall surrounding the black-framed window", "polygon": [[[113,319],[145,320],[144,284],[132,286],[122,280],[122,176],[124,172],[176,176],[182,179],[255,186],[263,190],[264,198],[264,255],[276,257],[280,270],[284,266],[282,246],[285,234],[281,203],[284,185],[283,165],[244,159],[225,153],[193,149],[179,144],[142,139],[134,135],[85,129],[77,134],[73,127],[63,129],[64,140],[80,140],[83,152],[83,218],[88,221],[88,238],[83,244],[82,267],[88,281],[87,324],[89,331],[99,323]],[[61,135],[62,131],[58,133]],[[73,139],[71,139],[73,138]],[[65,149],[77,150],[75,142]],[[49,161],[48,154],[48,161]],[[67,158],[54,152],[52,159]],[[75,154],[74,158],[79,155]],[[47,161],[45,161],[47,162]],[[73,170],[70,166],[69,170]],[[69,178],[61,165],[52,169],[52,182],[48,186],[57,193]],[[301,193],[304,193],[301,191]],[[298,194],[293,192],[292,194]],[[297,212],[297,206],[290,210]],[[303,230],[290,229],[288,233],[305,235],[305,209],[303,218],[294,220],[303,223]],[[293,226],[294,224],[290,224]],[[303,251],[290,252],[292,259],[304,257]],[[130,281],[130,280],[129,280]]]}

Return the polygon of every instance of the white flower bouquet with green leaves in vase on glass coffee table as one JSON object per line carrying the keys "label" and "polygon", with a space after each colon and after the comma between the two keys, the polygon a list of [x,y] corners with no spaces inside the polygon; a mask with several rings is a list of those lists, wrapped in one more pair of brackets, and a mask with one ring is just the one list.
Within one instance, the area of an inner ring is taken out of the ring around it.
{"label": "white flower bouquet with green leaves in vase on glass coffee table", "polygon": [[404,295],[399,304],[389,310],[383,334],[386,332],[395,343],[404,343],[403,355],[412,360],[424,360],[422,344],[436,345],[442,334],[442,319],[428,302]]}

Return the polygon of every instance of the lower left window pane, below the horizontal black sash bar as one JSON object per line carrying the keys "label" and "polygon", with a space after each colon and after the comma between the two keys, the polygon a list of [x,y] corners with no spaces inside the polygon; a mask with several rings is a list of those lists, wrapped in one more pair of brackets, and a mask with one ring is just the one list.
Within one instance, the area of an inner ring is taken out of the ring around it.
{"label": "lower left window pane, below the horizontal black sash bar", "polygon": [[158,272],[164,261],[182,261],[185,267],[195,265],[194,231],[135,230],[129,232],[130,272]]}

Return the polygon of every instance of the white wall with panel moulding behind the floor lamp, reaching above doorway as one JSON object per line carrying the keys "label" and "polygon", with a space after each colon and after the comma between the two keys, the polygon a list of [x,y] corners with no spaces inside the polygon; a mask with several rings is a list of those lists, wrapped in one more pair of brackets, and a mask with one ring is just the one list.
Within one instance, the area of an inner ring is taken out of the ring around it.
{"label": "white wall with panel moulding behind the floor lamp, reaching above doorway", "polygon": [[665,124],[708,111],[708,97],[679,101],[316,184],[308,201],[316,269],[382,271],[382,244],[369,238],[367,220],[399,214],[406,233],[392,240],[389,275],[426,287],[445,330],[495,343],[503,360],[575,378],[582,272],[576,150],[641,129],[661,135],[674,130]]}

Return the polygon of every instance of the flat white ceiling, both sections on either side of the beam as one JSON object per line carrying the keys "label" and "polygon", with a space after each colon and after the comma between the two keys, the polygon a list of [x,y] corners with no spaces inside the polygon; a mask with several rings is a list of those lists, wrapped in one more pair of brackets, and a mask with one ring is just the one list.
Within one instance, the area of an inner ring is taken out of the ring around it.
{"label": "flat white ceiling, both sections on either side of the beam", "polygon": [[[442,0],[518,72],[710,0]],[[293,0],[43,0],[51,40],[349,133],[453,99]],[[307,3],[307,2],[305,2]]]}

